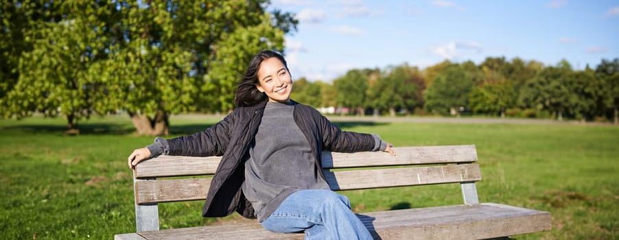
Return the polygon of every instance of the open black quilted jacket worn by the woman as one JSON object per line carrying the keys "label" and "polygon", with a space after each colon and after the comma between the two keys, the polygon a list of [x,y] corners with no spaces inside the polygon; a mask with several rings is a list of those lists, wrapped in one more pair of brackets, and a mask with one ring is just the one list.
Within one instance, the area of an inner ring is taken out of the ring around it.
{"label": "open black quilted jacket worn by the woman", "polygon": [[[211,180],[202,216],[224,217],[237,211],[243,217],[256,217],[241,186],[245,180],[244,163],[249,158],[248,150],[258,131],[265,106],[266,102],[237,108],[203,132],[167,140],[170,155],[222,156]],[[293,115],[294,121],[314,149],[318,166],[322,166],[320,157],[323,149],[334,152],[375,149],[375,138],[371,134],[341,131],[310,106],[294,103]]]}

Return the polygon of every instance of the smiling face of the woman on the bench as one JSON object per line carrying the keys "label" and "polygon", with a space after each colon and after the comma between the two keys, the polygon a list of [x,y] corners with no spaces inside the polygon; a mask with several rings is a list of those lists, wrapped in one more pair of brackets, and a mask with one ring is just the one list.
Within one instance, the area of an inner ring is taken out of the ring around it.
{"label": "smiling face of the woman on the bench", "polygon": [[290,101],[292,77],[279,59],[268,58],[260,64],[256,88],[266,93],[269,101],[287,102]]}

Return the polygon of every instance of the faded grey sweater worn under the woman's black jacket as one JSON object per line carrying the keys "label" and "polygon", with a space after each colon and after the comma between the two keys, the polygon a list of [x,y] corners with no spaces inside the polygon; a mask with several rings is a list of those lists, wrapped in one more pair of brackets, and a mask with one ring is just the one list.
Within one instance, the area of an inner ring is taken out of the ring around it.
{"label": "faded grey sweater worn under the woman's black jacket", "polygon": [[245,162],[243,193],[258,221],[267,219],[290,194],[329,189],[320,178],[309,141],[292,118],[293,106],[268,103]]}

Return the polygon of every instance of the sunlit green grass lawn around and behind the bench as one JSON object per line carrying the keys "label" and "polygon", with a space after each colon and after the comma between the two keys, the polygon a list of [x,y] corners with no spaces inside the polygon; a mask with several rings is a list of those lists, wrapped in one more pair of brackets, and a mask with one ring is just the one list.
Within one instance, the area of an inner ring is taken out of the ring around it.
{"label": "sunlit green grass lawn around and behind the bench", "polygon": [[[172,117],[189,134],[218,117]],[[128,117],[0,120],[0,239],[111,239],[135,231],[128,154],[152,143]],[[618,239],[619,128],[609,125],[338,123],[396,146],[475,144],[481,202],[550,211],[552,231],[515,239]],[[461,204],[457,184],[344,192],[355,211]],[[160,205],[162,228],[209,224],[202,202]],[[227,217],[226,219],[235,218]],[[222,221],[226,221],[226,219]]]}

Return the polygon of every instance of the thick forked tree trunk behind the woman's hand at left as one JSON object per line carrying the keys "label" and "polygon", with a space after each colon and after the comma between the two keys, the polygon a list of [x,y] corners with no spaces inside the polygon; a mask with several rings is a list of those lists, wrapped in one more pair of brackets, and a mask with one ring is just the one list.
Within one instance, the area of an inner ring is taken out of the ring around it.
{"label": "thick forked tree trunk behind the woman's hand at left", "polygon": [[139,136],[161,136],[170,134],[167,113],[163,110],[156,112],[153,118],[137,112],[129,112],[131,121]]}

